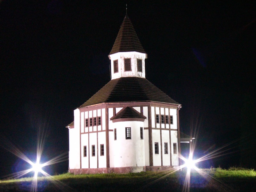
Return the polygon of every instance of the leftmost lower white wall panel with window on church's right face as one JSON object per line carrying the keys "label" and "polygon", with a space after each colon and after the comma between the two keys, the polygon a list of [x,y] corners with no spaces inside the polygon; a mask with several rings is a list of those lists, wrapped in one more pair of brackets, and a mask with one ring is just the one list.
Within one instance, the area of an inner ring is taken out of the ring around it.
{"label": "leftmost lower white wall panel with window on church's right face", "polygon": [[[158,142],[159,154],[155,154],[155,142]],[[161,166],[161,143],[160,143],[160,130],[152,130],[152,149],[153,149],[153,165]]]}

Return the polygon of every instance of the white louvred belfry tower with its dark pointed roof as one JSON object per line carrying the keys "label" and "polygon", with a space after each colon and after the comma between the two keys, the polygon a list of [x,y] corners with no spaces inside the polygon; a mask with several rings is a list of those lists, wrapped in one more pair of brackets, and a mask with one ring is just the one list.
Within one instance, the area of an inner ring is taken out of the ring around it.
{"label": "white louvred belfry tower with its dark pointed roof", "polygon": [[111,60],[111,79],[127,76],[145,78],[147,54],[127,14],[108,57]]}

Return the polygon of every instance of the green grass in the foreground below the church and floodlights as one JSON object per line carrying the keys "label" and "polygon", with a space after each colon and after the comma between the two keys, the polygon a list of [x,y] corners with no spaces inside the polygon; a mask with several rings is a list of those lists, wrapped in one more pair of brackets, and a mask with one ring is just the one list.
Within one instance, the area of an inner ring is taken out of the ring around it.
{"label": "green grass in the foreground below the church and floodlights", "polygon": [[[205,179],[192,171],[190,191],[256,191],[256,171],[252,169],[233,167],[228,170],[212,168],[201,171],[210,176]],[[186,169],[167,174],[168,172],[93,175],[64,173],[38,177],[37,191],[182,191]],[[30,191],[32,181],[33,178],[0,180],[0,191]]]}

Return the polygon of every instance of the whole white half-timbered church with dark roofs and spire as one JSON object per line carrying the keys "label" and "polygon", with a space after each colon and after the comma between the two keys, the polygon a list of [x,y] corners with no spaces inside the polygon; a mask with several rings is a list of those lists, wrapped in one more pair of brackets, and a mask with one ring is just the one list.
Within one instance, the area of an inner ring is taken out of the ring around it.
{"label": "whole white half-timbered church with dark roofs and spire", "polygon": [[74,110],[69,172],[126,173],[179,165],[181,104],[146,79],[143,49],[124,17],[110,51],[111,80]]}

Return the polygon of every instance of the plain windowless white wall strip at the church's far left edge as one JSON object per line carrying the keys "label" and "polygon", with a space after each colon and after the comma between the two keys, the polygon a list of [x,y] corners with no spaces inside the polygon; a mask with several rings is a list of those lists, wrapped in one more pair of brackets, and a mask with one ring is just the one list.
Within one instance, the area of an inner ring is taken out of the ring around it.
{"label": "plain windowless white wall strip at the church's far left edge", "polygon": [[69,168],[80,168],[80,111],[74,110],[74,128],[69,129]]}

